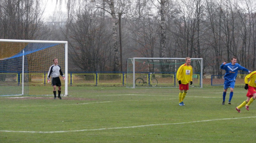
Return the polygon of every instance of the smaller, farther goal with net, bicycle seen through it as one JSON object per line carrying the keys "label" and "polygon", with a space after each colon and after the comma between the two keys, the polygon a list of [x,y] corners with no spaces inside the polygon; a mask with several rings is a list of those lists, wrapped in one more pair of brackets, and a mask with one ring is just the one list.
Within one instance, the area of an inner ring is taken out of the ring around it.
{"label": "smaller, farther goal with net, bicycle seen through it", "polygon": [[[129,58],[126,87],[179,87],[176,73],[185,58]],[[203,59],[191,58],[193,85],[203,87]]]}

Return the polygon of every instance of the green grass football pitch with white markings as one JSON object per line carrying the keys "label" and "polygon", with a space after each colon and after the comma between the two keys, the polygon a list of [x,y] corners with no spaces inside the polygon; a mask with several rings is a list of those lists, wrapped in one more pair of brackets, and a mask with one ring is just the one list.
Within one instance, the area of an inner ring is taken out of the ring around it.
{"label": "green grass football pitch with white markings", "polygon": [[0,142],[254,142],[256,103],[235,109],[246,100],[243,87],[231,105],[221,105],[222,86],[190,88],[185,106],[178,92],[85,86],[69,87],[62,100],[0,97]]}

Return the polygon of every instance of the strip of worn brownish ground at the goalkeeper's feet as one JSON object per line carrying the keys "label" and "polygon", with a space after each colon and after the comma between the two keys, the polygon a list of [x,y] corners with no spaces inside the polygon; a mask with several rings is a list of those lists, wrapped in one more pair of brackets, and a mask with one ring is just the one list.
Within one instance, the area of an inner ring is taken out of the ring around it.
{"label": "strip of worn brownish ground at the goalkeeper's feet", "polygon": [[[52,97],[10,97],[9,99],[14,100],[53,100]],[[74,97],[61,97],[62,100],[78,100],[78,101],[94,101],[96,99],[88,98],[74,98]],[[59,100],[58,98],[56,100]]]}

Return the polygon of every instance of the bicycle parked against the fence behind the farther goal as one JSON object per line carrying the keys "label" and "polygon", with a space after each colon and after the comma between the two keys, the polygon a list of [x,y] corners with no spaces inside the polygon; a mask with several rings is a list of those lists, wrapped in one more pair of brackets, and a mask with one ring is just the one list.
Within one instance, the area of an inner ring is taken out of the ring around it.
{"label": "bicycle parked against the fence behind the farther goal", "polygon": [[157,79],[155,77],[151,76],[152,74],[154,74],[154,73],[150,73],[149,74],[149,76],[150,76],[149,79],[147,79],[147,76],[143,76],[142,78],[137,78],[135,80],[135,85],[136,86],[143,86],[143,84],[147,84],[147,81],[148,81],[148,85],[150,85],[150,86],[157,86],[158,81],[157,81]]}

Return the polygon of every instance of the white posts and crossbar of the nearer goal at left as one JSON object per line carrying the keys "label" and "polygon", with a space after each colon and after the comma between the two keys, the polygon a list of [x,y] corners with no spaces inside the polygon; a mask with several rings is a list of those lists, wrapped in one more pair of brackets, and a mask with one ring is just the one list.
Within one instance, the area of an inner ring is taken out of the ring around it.
{"label": "white posts and crossbar of the nearer goal at left", "polygon": [[[47,40],[12,40],[0,39],[2,42],[28,42],[28,43],[60,43],[65,44],[65,96],[68,96],[68,41],[47,41]],[[23,76],[24,76],[24,54],[23,54]],[[24,95],[24,78],[22,78],[22,96]]]}

